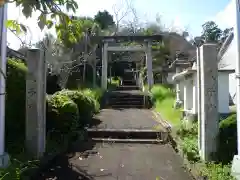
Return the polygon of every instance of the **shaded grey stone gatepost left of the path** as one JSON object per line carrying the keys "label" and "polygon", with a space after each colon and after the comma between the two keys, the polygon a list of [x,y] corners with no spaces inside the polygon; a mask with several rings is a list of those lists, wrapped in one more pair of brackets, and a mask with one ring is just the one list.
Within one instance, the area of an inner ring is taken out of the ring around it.
{"label": "shaded grey stone gatepost left of the path", "polygon": [[39,49],[27,53],[26,148],[39,158],[46,144],[46,59]]}

